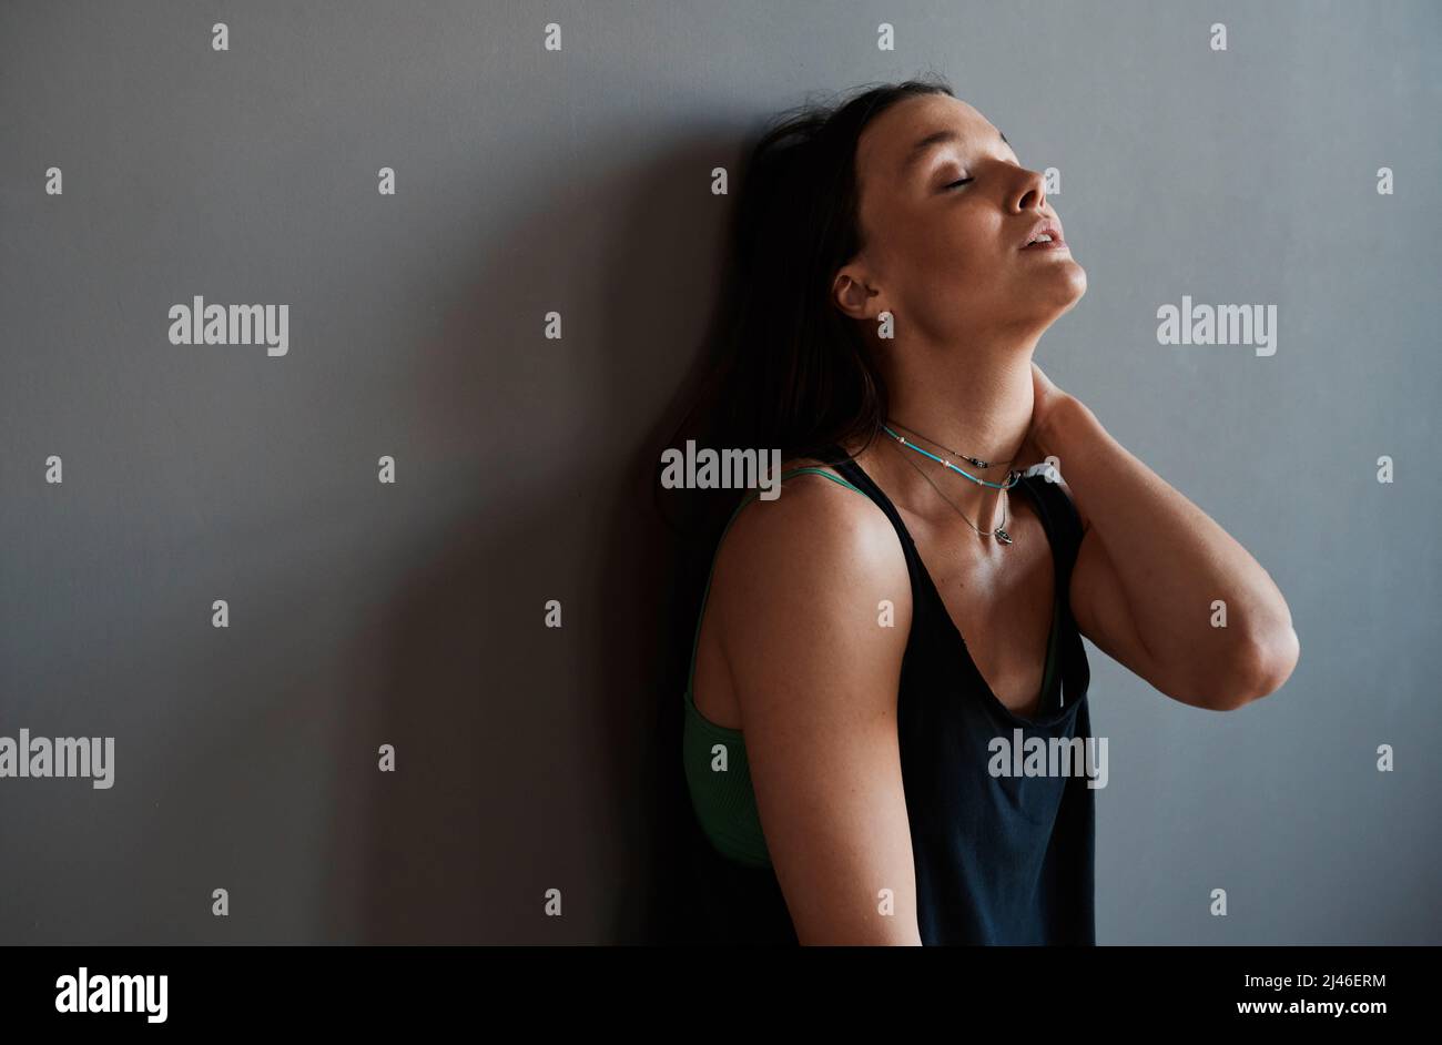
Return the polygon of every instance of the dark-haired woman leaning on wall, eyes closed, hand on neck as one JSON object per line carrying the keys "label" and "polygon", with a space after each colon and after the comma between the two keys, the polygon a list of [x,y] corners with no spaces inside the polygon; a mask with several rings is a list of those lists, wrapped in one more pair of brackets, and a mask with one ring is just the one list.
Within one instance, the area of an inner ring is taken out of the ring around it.
{"label": "dark-haired woman leaning on wall, eyes closed, hand on neck", "polygon": [[1082,636],[1195,708],[1273,692],[1286,602],[1032,362],[1086,272],[945,82],[767,133],[734,234],[694,417],[705,445],[780,448],[786,481],[731,494],[696,617],[711,938],[1094,943],[1096,747],[1040,773],[1014,748],[1096,741]]}

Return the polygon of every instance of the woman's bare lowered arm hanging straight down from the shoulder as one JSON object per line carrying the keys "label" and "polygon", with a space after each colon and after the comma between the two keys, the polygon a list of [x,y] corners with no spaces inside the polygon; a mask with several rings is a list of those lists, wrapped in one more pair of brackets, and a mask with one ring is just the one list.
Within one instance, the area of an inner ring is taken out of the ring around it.
{"label": "woman's bare lowered arm hanging straight down from the shoulder", "polygon": [[897,738],[906,559],[870,499],[797,480],[737,517],[714,592],[767,850],[802,944],[919,944]]}

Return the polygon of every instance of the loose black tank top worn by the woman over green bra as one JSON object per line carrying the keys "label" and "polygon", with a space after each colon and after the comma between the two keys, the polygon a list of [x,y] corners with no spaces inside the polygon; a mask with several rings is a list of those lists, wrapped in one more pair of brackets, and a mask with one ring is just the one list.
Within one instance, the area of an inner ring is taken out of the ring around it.
{"label": "loose black tank top worn by the woman over green bra", "polygon": [[[991,692],[891,500],[839,448],[820,458],[891,520],[911,577],[897,729],[921,943],[1094,944],[1093,788],[1080,760],[1057,774],[1053,758],[1060,748],[1080,752],[1090,738],[1090,667],[1067,600],[1082,541],[1076,507],[1043,476],[1027,476],[1017,486],[1037,507],[1057,584],[1057,664],[1028,719]],[[1007,752],[999,751],[1001,741]],[[1037,741],[1050,754],[1028,764]],[[1051,774],[1027,773],[1048,764]],[[1001,774],[1001,767],[1012,773]],[[797,943],[771,868],[727,859],[695,823],[691,853],[689,892],[701,940]]]}

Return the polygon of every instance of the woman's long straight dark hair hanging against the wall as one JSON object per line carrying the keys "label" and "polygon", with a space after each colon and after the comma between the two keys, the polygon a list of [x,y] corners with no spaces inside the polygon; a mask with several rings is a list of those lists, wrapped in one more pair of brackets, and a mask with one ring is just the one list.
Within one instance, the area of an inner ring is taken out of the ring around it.
{"label": "woman's long straight dark hair hanging against the wall", "polygon": [[929,94],[953,95],[932,74],[858,89],[831,107],[789,110],[751,147],[708,372],[669,447],[695,438],[715,448],[779,448],[787,460],[857,437],[870,445],[881,431],[881,370],[855,320],[831,303],[831,281],[865,245],[861,133],[898,101]]}

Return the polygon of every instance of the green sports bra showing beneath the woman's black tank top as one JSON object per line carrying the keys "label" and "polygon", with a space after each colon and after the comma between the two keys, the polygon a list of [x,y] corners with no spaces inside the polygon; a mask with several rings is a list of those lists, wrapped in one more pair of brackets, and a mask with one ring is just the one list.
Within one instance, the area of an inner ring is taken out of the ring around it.
{"label": "green sports bra showing beneath the woman's black tank top", "polygon": [[[839,476],[825,468],[792,468],[782,474],[780,481],[792,476],[815,473],[825,476],[833,483],[868,496],[859,487],[848,483]],[[753,490],[737,504],[721,538],[717,541],[720,551],[721,541],[725,539],[731,523],[741,515],[741,509],[751,503],[758,494]],[[701,610],[696,613],[696,633],[691,643],[691,669],[686,673],[685,692],[685,725],[682,728],[681,755],[685,762],[686,787],[691,791],[691,806],[696,813],[702,833],[722,856],[748,868],[769,868],[770,853],[766,849],[766,836],[761,833],[761,817],[756,807],[756,794],[751,790],[751,770],[746,758],[746,742],[740,729],[717,725],[696,708],[695,692],[692,689],[696,675],[696,649],[701,643],[701,621],[705,617],[707,597],[711,594],[711,578],[715,575],[715,556],[711,559],[711,571],[707,575],[707,587],[701,595]],[[1057,623],[1053,614],[1051,637],[1047,643],[1047,667],[1043,679],[1043,692],[1051,685],[1051,675],[1056,666],[1057,653]]]}

